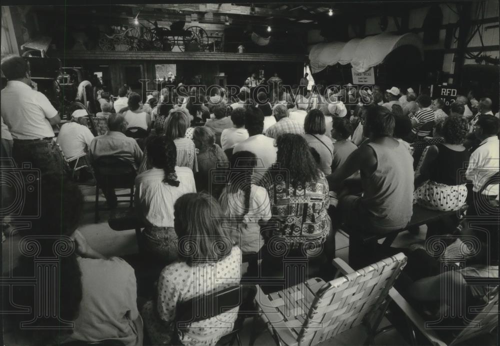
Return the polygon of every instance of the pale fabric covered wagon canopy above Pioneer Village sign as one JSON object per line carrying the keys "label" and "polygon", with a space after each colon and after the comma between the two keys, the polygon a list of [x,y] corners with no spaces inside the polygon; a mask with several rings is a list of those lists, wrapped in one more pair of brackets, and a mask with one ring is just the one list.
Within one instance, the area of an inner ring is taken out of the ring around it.
{"label": "pale fabric covered wagon canopy above Pioneer Village sign", "polygon": [[403,45],[415,46],[423,57],[422,40],[414,33],[380,33],[363,39],[353,38],[348,42],[314,44],[309,50],[311,72],[319,72],[336,63],[350,63],[356,71],[364,72],[381,63],[391,51]]}

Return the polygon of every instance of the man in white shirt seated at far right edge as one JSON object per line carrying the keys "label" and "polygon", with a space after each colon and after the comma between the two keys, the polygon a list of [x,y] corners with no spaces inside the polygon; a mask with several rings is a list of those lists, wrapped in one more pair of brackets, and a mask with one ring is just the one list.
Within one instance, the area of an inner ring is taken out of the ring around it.
{"label": "man in white shirt seated at far right edge", "polygon": [[500,171],[500,142],[498,141],[499,120],[491,115],[481,115],[474,125],[474,134],[481,140],[479,147],[470,155],[465,176],[472,181],[472,201],[469,201],[467,216],[481,215],[478,209],[485,208],[484,202],[498,198]]}

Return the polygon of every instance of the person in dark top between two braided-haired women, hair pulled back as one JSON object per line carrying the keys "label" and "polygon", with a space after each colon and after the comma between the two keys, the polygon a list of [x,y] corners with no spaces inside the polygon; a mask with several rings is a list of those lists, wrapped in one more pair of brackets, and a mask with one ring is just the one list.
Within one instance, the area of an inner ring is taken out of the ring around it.
{"label": "person in dark top between two braided-haired women, hair pulled back", "polygon": [[210,181],[210,171],[217,168],[218,163],[227,162],[222,148],[215,144],[215,134],[206,126],[198,126],[192,132],[192,141],[198,150],[196,155],[198,171],[194,174],[196,191],[210,192],[218,198],[222,186]]}

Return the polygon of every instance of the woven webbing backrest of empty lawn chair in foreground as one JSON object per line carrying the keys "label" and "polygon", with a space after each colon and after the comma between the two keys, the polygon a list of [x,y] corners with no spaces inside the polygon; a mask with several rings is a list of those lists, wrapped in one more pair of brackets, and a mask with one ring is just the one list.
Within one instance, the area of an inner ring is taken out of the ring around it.
{"label": "woven webbing backrest of empty lawn chair in foreground", "polygon": [[299,332],[301,345],[315,345],[360,324],[370,324],[377,311],[381,318],[388,292],[405,264],[406,256],[399,253],[324,284]]}

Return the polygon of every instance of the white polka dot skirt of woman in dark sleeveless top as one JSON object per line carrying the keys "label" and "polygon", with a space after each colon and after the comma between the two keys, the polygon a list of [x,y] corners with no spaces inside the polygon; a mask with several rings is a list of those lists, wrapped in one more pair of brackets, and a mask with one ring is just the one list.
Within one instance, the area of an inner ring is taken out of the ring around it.
{"label": "white polka dot skirt of woman in dark sleeveless top", "polygon": [[438,210],[458,210],[465,204],[467,188],[465,184],[449,186],[428,180],[413,193],[413,203],[421,207]]}

